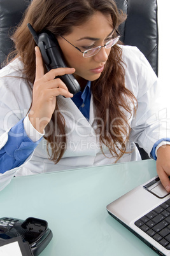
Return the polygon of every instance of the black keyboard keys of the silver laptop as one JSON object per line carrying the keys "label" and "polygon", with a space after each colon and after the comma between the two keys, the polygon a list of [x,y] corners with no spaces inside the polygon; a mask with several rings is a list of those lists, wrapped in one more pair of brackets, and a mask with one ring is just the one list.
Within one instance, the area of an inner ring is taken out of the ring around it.
{"label": "black keyboard keys of the silver laptop", "polygon": [[170,199],[136,220],[134,224],[170,250]]}

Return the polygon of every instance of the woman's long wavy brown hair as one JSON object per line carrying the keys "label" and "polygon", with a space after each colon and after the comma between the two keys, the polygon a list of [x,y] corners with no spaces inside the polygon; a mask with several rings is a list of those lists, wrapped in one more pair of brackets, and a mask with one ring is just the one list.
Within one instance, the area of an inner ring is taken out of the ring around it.
{"label": "woman's long wavy brown hair", "polygon": [[[13,34],[15,42],[16,57],[20,57],[24,63],[24,74],[27,80],[34,83],[36,60],[34,47],[36,46],[32,36],[27,29],[27,23],[32,24],[36,32],[47,29],[53,34],[62,36],[71,33],[76,25],[81,25],[89,20],[96,11],[101,11],[104,15],[111,15],[113,27],[124,22],[125,15],[117,9],[114,0],[33,0],[22,23]],[[120,42],[119,42],[120,43]],[[126,143],[129,138],[130,127],[125,113],[131,113],[130,103],[134,105],[136,100],[132,93],[125,88],[125,70],[122,62],[122,49],[115,45],[111,48],[110,55],[105,68],[99,79],[92,82],[91,90],[96,107],[97,129],[101,145],[108,146],[111,155],[120,159],[126,152]],[[53,143],[52,153],[48,152],[50,159],[59,162],[66,145],[65,120],[56,104],[57,122],[54,113],[50,123],[46,126],[45,139],[47,141],[47,150],[49,143]],[[106,113],[108,113],[106,115]],[[55,122],[54,122],[55,120]],[[103,120],[103,127],[99,124]],[[114,120],[113,127],[110,122]],[[49,129],[53,132],[48,132]],[[57,131],[57,134],[56,134]],[[49,135],[48,135],[49,133]],[[62,135],[62,136],[60,136]],[[101,146],[102,150],[102,146]]]}

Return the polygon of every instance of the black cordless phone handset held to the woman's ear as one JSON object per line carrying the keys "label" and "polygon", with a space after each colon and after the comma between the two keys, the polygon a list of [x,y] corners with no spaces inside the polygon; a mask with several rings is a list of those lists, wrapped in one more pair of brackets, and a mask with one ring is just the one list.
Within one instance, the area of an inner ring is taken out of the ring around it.
{"label": "black cordless phone handset held to the woman's ear", "polygon": [[[31,24],[27,24],[27,27],[34,38],[36,45],[39,46],[39,50],[47,70],[50,71],[50,69],[55,68],[67,68],[62,57],[62,51],[60,50],[59,43],[55,36],[53,36],[49,31],[37,34]],[[72,94],[76,94],[76,92],[80,91],[80,85],[73,75],[66,74],[64,76],[59,76],[59,78],[66,84],[67,89]]]}

